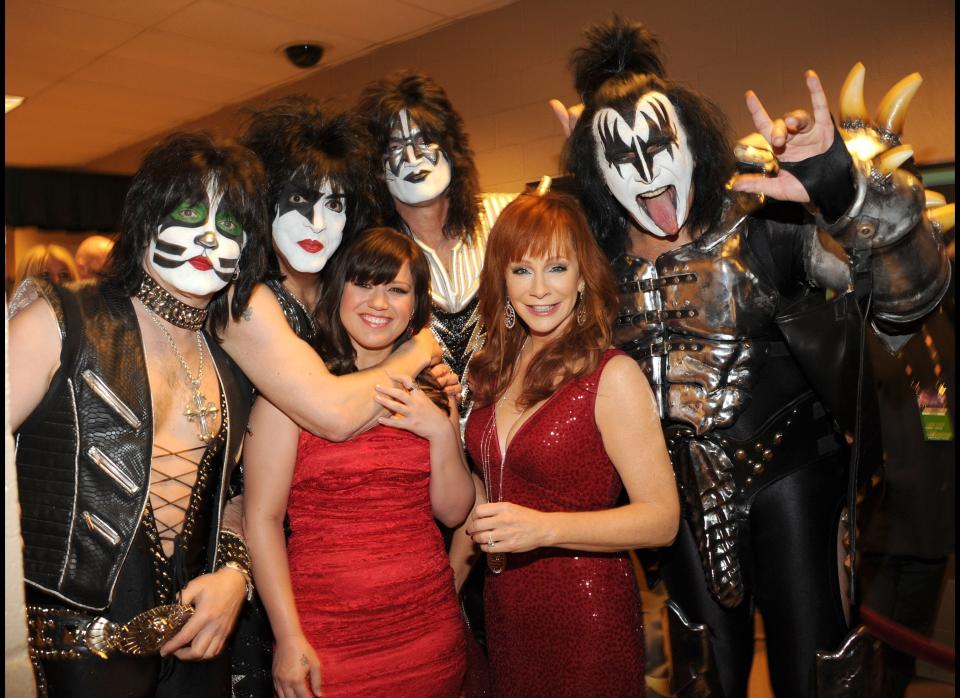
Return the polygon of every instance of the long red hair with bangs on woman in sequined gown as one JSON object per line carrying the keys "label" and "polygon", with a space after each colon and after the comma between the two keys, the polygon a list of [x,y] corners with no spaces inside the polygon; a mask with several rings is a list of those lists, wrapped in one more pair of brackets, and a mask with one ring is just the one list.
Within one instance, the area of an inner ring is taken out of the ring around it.
{"label": "long red hair with bangs on woman in sequined gown", "polygon": [[[613,272],[590,234],[577,201],[566,194],[521,194],[503,209],[487,240],[480,273],[480,318],[487,340],[470,362],[470,390],[477,405],[497,400],[513,378],[517,355],[527,337],[520,319],[504,324],[507,267],[524,256],[561,253],[576,259],[584,282],[586,318],[574,318],[563,333],[530,362],[517,404],[529,407],[552,395],[564,383],[588,374],[613,341],[611,329],[619,307]],[[579,311],[579,304],[574,313]]]}

